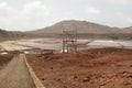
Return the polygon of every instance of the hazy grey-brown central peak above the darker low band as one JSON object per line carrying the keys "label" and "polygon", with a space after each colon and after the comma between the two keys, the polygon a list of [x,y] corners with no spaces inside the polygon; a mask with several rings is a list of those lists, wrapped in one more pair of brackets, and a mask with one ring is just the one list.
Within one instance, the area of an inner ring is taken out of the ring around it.
{"label": "hazy grey-brown central peak above the darker low band", "polygon": [[125,34],[132,32],[132,30],[129,29],[124,30],[119,28],[110,28],[87,21],[75,21],[75,20],[62,21],[54,24],[53,26],[44,28],[33,32],[40,34],[42,33],[61,34],[63,31],[66,30],[77,30],[78,33],[85,33],[85,34]]}

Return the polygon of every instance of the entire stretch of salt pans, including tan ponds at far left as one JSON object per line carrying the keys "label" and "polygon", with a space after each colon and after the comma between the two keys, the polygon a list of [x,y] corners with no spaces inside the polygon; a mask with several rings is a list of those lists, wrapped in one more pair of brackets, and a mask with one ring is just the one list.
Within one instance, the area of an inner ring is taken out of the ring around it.
{"label": "entire stretch of salt pans, including tan ponds at far left", "polygon": [[[132,50],[132,41],[112,41],[112,40],[78,40],[78,44],[86,44],[85,47],[78,46],[78,50],[88,48],[105,48],[105,47],[117,47],[117,48],[129,48]],[[20,41],[6,41],[1,42],[0,45],[7,51],[18,50],[62,50],[62,40],[59,38],[34,38],[34,40],[20,40]]]}

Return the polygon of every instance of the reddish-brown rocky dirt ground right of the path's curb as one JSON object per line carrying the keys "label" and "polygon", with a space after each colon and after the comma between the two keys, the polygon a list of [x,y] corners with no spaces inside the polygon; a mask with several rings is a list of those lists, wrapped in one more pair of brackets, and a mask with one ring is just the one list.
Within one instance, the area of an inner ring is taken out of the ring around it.
{"label": "reddish-brown rocky dirt ground right of the path's curb", "polygon": [[46,88],[132,88],[130,50],[28,55],[28,61]]}

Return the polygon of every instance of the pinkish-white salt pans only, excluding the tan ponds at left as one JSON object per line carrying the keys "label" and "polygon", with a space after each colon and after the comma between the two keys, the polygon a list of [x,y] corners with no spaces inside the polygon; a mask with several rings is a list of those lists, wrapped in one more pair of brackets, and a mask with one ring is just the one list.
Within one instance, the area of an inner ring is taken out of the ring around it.
{"label": "pinkish-white salt pans only, excluding the tan ponds at left", "polygon": [[[78,40],[79,44],[86,44],[85,47],[78,50],[88,48],[105,48],[105,47],[117,47],[117,48],[130,48],[132,50],[132,41],[112,41],[112,40]],[[38,40],[26,40],[18,41],[15,44],[31,46],[41,50],[62,50],[62,40],[58,38],[38,38]]]}

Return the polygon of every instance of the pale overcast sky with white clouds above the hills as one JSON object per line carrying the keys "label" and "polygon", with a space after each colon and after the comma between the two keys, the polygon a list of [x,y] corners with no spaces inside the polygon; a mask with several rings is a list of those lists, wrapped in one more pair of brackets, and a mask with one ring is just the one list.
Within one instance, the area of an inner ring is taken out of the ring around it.
{"label": "pale overcast sky with white clouds above the hills", "polygon": [[132,0],[0,0],[0,29],[32,31],[64,20],[132,26]]}

